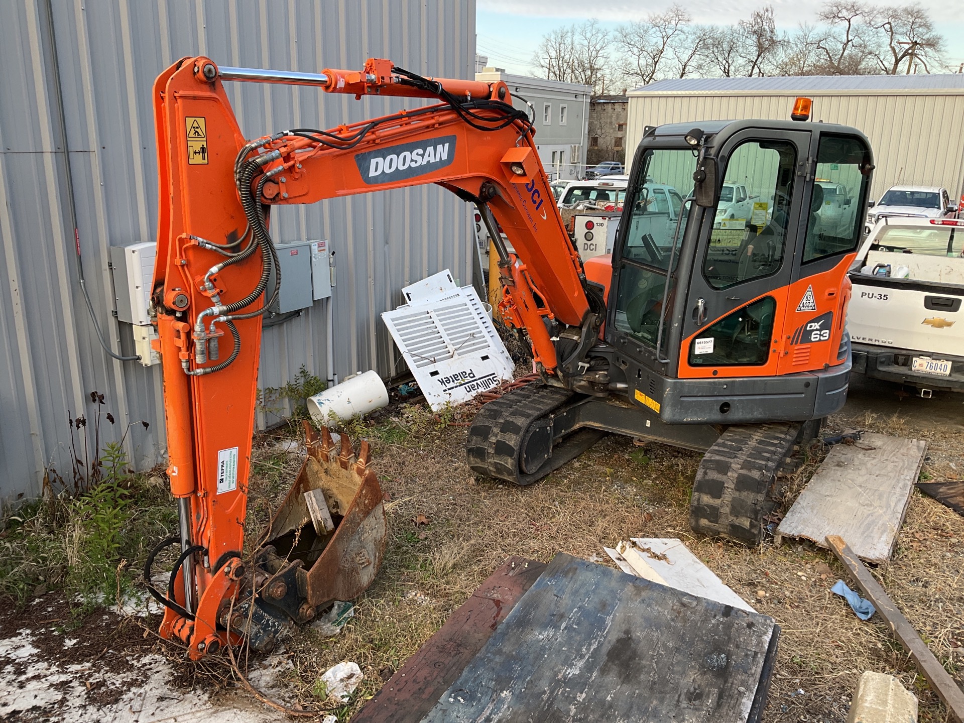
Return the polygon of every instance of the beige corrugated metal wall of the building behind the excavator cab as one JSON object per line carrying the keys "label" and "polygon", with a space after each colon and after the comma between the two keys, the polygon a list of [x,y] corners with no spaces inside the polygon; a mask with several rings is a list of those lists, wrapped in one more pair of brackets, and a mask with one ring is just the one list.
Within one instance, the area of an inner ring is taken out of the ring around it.
{"label": "beige corrugated metal wall of the building behind the excavator cab", "polygon": [[[874,199],[897,183],[964,192],[964,92],[819,94],[814,120],[862,130],[873,148]],[[796,94],[656,94],[629,96],[629,148],[647,125],[744,118],[789,120]]]}

